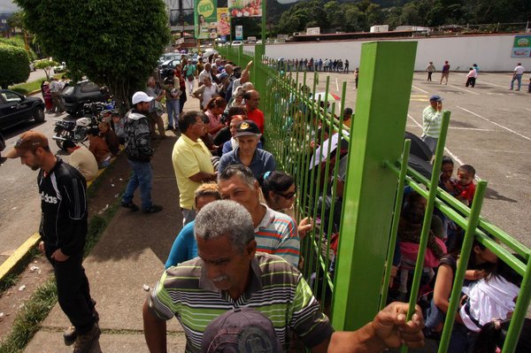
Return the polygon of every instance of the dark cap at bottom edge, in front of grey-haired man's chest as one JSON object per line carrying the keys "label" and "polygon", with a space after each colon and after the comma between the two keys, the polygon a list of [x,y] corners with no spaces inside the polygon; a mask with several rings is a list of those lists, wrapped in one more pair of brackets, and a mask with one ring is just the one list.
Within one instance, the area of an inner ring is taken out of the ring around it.
{"label": "dark cap at bottom edge, in front of grey-haired man's chest", "polygon": [[273,323],[251,308],[227,311],[204,330],[204,353],[281,353],[281,341]]}

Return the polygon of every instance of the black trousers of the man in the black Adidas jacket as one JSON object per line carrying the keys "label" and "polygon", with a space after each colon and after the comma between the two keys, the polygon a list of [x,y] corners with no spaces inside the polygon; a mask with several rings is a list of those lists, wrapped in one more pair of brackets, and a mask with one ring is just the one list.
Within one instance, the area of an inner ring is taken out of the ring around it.
{"label": "black trousers of the man in the black Adidas jacket", "polygon": [[83,252],[81,250],[65,261],[56,261],[51,258],[55,248],[45,245],[44,249],[55,274],[59,306],[78,333],[86,334],[96,322],[96,318],[93,312],[95,302],[90,297],[89,280],[81,265]]}

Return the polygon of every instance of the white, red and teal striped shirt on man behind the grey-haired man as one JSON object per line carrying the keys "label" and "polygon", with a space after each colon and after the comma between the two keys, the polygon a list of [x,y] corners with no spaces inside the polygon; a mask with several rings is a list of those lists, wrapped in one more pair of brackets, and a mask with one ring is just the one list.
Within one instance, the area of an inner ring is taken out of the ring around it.
{"label": "white, red and teal striped shirt on man behind the grey-haired man", "polygon": [[273,211],[265,203],[266,214],[255,228],[257,250],[282,257],[289,264],[298,266],[301,242],[296,224],[288,215]]}

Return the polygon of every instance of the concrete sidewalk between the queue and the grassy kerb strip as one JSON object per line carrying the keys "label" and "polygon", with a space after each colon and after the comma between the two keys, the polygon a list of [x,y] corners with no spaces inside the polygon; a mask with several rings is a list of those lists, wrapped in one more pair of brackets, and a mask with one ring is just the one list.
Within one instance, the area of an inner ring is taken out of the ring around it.
{"label": "concrete sidewalk between the queue and the grassy kerb strip", "polygon": [[[185,111],[198,110],[199,101],[188,97]],[[155,214],[120,208],[96,247],[84,261],[91,295],[100,314],[102,335],[90,352],[149,352],[143,337],[142,305],[148,292],[164,271],[164,264],[181,230],[179,192],[172,165],[173,144],[177,137],[167,131],[152,159],[153,203],[164,210]],[[137,190],[135,203],[140,204]],[[50,311],[41,329],[25,352],[72,352],[63,342],[63,331],[70,326],[58,304]],[[168,350],[184,351],[186,339],[176,319],[168,322]]]}

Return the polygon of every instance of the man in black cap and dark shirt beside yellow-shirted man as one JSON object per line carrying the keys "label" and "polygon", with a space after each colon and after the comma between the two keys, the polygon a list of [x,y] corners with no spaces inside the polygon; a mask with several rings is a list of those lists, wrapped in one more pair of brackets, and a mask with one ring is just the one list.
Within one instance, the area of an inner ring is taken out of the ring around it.
{"label": "man in black cap and dark shirt beside yellow-shirted man", "polygon": [[250,168],[258,179],[266,172],[276,168],[276,162],[271,153],[258,149],[260,130],[252,120],[243,120],[236,126],[235,139],[238,146],[219,159],[218,171],[223,172],[229,165],[245,165]]}

